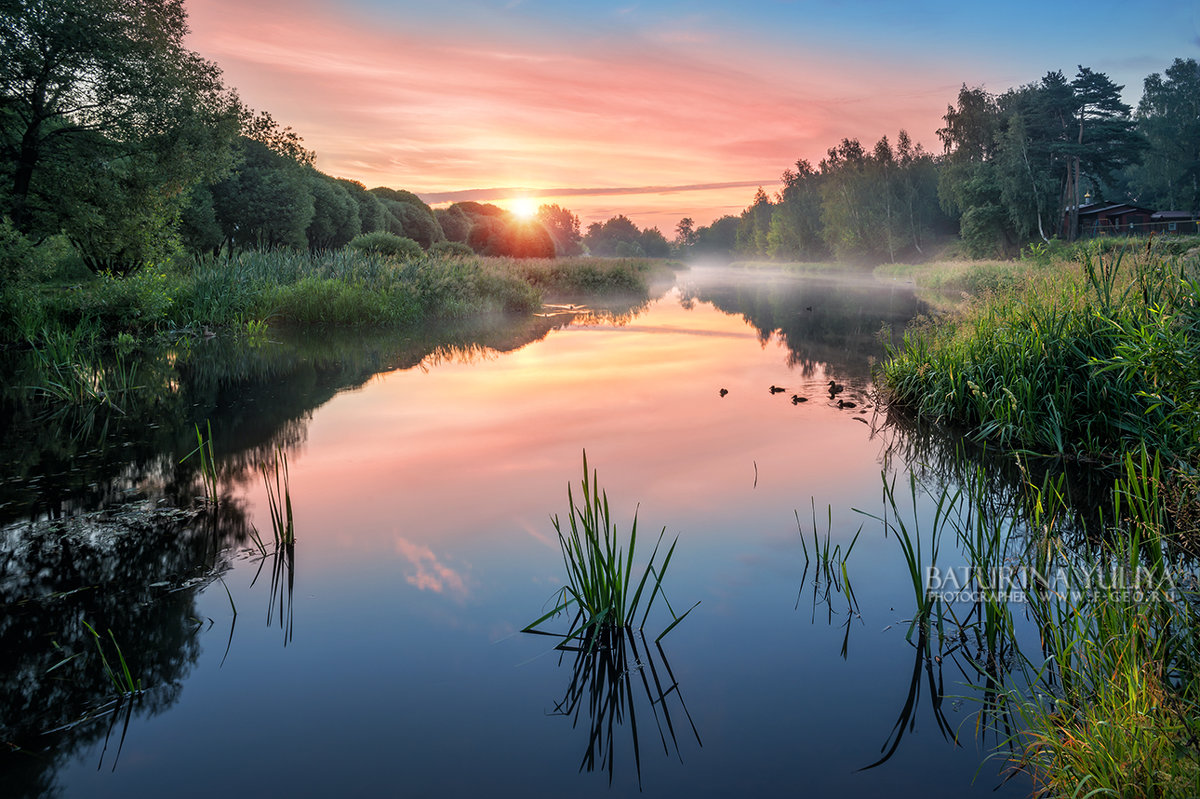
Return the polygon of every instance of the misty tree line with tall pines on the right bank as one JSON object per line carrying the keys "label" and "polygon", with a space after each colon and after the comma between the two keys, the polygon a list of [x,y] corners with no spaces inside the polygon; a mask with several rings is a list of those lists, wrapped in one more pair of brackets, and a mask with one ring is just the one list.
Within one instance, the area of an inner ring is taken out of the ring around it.
{"label": "misty tree line with tall pines on the right bank", "polygon": [[1080,66],[998,95],[966,84],[949,104],[938,155],[900,131],[866,149],[842,139],[817,166],[800,160],[782,188],[762,188],[740,216],[676,227],[696,254],[883,262],[920,257],[958,233],[976,257],[1079,234],[1079,208],[1132,202],[1200,214],[1200,65],[1175,59],[1144,82],[1136,109],[1123,86]]}

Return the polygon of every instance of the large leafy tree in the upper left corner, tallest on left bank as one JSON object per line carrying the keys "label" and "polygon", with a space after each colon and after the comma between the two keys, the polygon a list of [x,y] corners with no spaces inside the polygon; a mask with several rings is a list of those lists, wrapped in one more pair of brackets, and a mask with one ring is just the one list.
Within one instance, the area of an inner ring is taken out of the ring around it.
{"label": "large leafy tree in the upper left corner, tallest on left bank", "polygon": [[[241,109],[186,32],[182,0],[0,0],[4,202],[20,229],[86,217],[78,244],[109,250],[85,258],[136,265],[187,190],[228,170]],[[113,193],[66,197],[52,172]]]}

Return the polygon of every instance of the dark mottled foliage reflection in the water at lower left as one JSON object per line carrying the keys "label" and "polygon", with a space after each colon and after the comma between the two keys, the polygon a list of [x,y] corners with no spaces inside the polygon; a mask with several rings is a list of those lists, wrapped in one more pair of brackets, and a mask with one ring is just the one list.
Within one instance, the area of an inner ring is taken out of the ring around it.
{"label": "dark mottled foliage reflection in the water at lower left", "polygon": [[[222,567],[205,519],[145,505],[0,534],[7,795],[48,795],[70,752],[176,701],[199,654],[197,591]],[[136,699],[114,697],[89,624],[113,631],[145,689]]]}

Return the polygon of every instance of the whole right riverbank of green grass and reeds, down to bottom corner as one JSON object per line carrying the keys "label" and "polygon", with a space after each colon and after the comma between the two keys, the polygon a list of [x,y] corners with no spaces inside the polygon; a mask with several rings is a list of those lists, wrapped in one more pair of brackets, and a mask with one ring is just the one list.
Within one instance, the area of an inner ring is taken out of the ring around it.
{"label": "whole right riverbank of green grass and reeds, down to bottom corner", "polygon": [[[1061,558],[1075,582],[1082,564],[1153,577],[1032,603],[1042,665],[1006,680],[998,704],[1021,722],[1007,756],[1046,795],[1189,797],[1200,783],[1200,617],[1178,579],[1200,552],[1200,259],[1187,245],[880,270],[943,301],[959,293],[889,353],[893,408],[1024,461],[1112,471],[1112,504],[1081,540],[1061,535],[1062,483],[1048,482],[1028,487],[1028,540],[1001,548],[1042,573]],[[1000,627],[1016,613],[985,606]]]}

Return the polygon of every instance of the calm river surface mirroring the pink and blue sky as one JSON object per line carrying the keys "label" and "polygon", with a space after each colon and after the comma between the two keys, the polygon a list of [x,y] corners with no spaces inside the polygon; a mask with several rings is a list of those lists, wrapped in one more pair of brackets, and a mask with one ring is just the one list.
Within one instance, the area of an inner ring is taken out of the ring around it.
{"label": "calm river surface mirroring the pink and blue sky", "polygon": [[[900,549],[852,510],[882,512],[881,471],[905,480],[930,452],[884,425],[870,383],[881,326],[922,310],[868,278],[694,270],[617,316],[250,354],[194,342],[146,367],[166,398],[136,421],[10,420],[7,522],[185,500],[198,482],[179,459],[205,420],[224,498],[215,529],[115,543],[30,543],[10,525],[4,782],[122,798],[1026,795],[984,762],[995,740],[959,698],[964,672],[906,641]],[[857,408],[829,401],[832,379]],[[296,543],[263,558],[251,467],[276,445]],[[592,655],[520,632],[564,577],[550,516],[584,449],[622,530],[637,510],[643,536],[678,536],[667,599],[700,606],[661,647],[658,611],[646,638]],[[796,511],[811,535],[814,504],[834,543],[863,528],[857,612],[805,571]],[[131,714],[41,735],[114,693],[83,620],[112,627],[149,690]]]}

